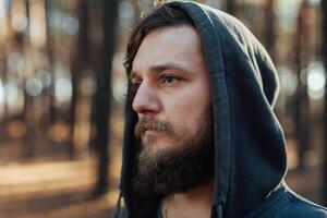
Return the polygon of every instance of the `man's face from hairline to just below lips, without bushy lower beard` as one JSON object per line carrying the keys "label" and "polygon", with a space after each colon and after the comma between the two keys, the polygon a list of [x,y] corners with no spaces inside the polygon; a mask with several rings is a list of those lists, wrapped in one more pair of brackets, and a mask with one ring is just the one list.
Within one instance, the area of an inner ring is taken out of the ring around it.
{"label": "man's face from hairline to just below lips, without bushy lower beard", "polygon": [[144,152],[182,150],[199,138],[211,119],[208,73],[196,31],[162,27],[142,41],[131,82],[138,86],[133,109]]}

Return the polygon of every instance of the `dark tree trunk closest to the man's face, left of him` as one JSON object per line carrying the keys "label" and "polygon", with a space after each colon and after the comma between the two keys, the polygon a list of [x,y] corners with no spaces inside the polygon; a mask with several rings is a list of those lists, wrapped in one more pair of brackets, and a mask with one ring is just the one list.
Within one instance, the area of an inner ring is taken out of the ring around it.
{"label": "dark tree trunk closest to the man's face, left of him", "polygon": [[99,158],[98,180],[95,194],[97,196],[105,194],[108,185],[108,143],[110,138],[109,116],[111,104],[111,70],[112,59],[116,49],[116,25],[117,25],[118,1],[104,1],[104,61],[102,71],[98,73],[97,78],[97,98],[96,98],[96,147]]}

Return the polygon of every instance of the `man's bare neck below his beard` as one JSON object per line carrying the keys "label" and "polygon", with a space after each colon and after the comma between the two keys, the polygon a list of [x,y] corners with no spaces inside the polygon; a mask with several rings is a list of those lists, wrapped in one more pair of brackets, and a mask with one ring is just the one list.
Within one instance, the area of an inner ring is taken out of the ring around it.
{"label": "man's bare neck below his beard", "polygon": [[214,182],[185,193],[177,193],[164,198],[164,218],[209,218],[214,201]]}

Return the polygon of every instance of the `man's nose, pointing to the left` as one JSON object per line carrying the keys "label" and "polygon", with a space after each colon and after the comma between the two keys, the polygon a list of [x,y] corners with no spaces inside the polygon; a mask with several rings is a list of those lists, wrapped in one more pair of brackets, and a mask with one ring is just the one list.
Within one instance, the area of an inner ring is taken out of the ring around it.
{"label": "man's nose, pointing to the left", "polygon": [[160,104],[156,90],[143,82],[136,92],[132,107],[138,114],[158,113]]}

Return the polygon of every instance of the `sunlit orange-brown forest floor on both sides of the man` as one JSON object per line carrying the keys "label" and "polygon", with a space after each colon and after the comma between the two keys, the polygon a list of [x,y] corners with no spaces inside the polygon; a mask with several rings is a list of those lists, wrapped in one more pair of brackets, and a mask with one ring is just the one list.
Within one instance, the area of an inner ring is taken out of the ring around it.
{"label": "sunlit orange-brown forest floor on both sides of the man", "polygon": [[[0,167],[0,217],[109,217],[118,196],[117,172],[116,175],[111,173],[110,178],[112,191],[102,197],[93,198],[95,165],[95,159],[88,159]],[[317,167],[293,170],[288,174],[287,181],[296,192],[319,202],[319,172]]]}

